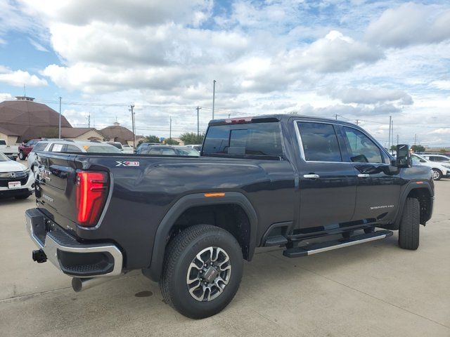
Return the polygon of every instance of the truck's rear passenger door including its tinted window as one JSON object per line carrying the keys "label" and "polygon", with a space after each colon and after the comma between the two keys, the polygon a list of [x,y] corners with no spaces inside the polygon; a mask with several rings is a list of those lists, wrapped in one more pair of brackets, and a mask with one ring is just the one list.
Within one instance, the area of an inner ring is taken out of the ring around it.
{"label": "truck's rear passenger door including its tinted window", "polygon": [[300,145],[300,231],[338,228],[352,220],[356,173],[342,157],[335,126],[295,121]]}

